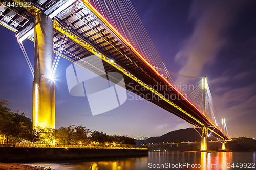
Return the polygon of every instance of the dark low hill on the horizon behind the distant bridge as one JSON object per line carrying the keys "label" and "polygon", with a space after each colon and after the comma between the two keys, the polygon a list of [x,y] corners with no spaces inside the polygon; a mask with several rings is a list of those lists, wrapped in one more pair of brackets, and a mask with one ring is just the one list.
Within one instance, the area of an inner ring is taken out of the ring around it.
{"label": "dark low hill on the horizon behind the distant bridge", "polygon": [[[201,133],[200,129],[197,129]],[[209,140],[217,140],[215,137],[210,136]],[[141,144],[152,144],[152,143],[171,143],[171,142],[188,142],[188,141],[201,141],[201,136],[197,133],[194,128],[179,129],[171,131],[162,136],[150,137],[145,141],[136,140],[136,146],[139,147]]]}

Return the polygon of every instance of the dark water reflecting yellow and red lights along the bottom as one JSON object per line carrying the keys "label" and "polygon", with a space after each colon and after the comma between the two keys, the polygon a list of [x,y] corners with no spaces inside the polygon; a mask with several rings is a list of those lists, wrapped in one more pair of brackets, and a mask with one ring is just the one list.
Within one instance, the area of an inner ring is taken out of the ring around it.
{"label": "dark water reflecting yellow and red lights along the bottom", "polygon": [[[256,152],[150,152],[148,157],[30,163],[51,169],[256,169]],[[162,165],[161,165],[162,164]],[[162,166],[162,167],[161,167]],[[207,167],[208,166],[208,167]]]}

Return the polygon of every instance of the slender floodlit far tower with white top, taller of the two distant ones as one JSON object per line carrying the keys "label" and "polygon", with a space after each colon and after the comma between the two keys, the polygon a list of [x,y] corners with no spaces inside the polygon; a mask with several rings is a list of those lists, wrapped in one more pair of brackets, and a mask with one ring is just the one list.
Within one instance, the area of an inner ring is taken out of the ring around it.
{"label": "slender floodlit far tower with white top, taller of the two distant ones", "polygon": [[[203,89],[203,114],[205,113],[205,94],[206,94],[206,77],[203,77],[202,80],[202,89]],[[208,127],[202,127],[202,138],[201,138],[201,151],[207,151],[208,149]]]}

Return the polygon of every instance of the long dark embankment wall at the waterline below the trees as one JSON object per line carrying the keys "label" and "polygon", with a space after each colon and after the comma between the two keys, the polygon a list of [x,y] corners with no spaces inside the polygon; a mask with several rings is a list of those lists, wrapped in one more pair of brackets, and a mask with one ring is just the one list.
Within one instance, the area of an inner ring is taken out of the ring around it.
{"label": "long dark embankment wall at the waterline below the trees", "polygon": [[32,162],[137,156],[148,156],[148,150],[0,147],[0,162]]}

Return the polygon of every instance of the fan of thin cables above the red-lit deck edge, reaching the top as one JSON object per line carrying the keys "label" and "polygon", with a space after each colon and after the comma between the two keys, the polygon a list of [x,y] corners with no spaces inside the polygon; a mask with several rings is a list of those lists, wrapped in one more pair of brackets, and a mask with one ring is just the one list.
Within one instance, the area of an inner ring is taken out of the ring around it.
{"label": "fan of thin cables above the red-lit deck edge, reaching the top", "polygon": [[172,78],[148,36],[130,0],[89,0],[89,2],[131,43],[153,66],[163,72],[170,82]]}

